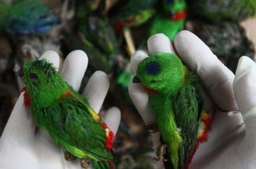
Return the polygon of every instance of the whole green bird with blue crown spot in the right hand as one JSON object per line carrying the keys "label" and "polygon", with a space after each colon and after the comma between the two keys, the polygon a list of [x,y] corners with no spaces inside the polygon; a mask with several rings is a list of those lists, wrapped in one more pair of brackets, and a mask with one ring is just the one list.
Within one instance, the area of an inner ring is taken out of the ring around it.
{"label": "whole green bird with blue crown spot in the right hand", "polygon": [[161,135],[157,160],[163,159],[168,169],[187,169],[198,144],[207,140],[211,128],[200,78],[170,53],[147,57],[139,63],[136,74],[133,83],[141,83],[148,91],[157,120],[157,128],[155,124],[147,127]]}

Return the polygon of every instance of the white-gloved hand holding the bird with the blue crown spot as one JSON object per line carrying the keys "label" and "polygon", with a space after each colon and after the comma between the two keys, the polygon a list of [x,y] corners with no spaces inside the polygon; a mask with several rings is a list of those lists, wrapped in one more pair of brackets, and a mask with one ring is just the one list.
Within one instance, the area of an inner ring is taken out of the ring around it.
{"label": "white-gloved hand holding the bird with the blue crown spot", "polygon": [[[203,91],[203,98],[206,110],[212,114],[212,131],[208,134],[208,141],[199,145],[189,169],[255,168],[254,61],[242,57],[235,76],[204,42],[189,31],[179,32],[173,42],[163,34],[156,34],[149,38],[147,45],[151,54],[165,52],[178,55],[185,65],[200,76],[206,89]],[[148,54],[145,51],[136,51],[133,54],[131,66],[134,72],[138,63],[146,57]],[[145,124],[155,124],[147,91],[140,84],[130,83],[129,94]],[[159,133],[152,134],[152,138],[153,148],[157,149],[160,145]],[[163,168],[162,161],[158,162],[157,167]]]}

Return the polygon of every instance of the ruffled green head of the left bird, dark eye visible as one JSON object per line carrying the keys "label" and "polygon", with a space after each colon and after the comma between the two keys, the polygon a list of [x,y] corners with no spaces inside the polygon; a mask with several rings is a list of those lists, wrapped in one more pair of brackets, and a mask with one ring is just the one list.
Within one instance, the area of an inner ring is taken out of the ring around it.
{"label": "ruffled green head of the left bird, dark eye visible", "polygon": [[32,105],[35,102],[37,106],[47,106],[59,98],[67,88],[67,83],[46,59],[25,63],[17,71],[17,75],[24,81],[25,87],[22,89],[25,91],[24,102],[25,95],[28,94]]}

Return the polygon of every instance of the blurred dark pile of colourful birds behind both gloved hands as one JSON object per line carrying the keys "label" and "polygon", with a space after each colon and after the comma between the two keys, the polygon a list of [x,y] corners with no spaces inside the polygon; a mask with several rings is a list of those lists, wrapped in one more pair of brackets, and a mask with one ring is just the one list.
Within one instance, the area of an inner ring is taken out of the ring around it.
{"label": "blurred dark pile of colourful birds behind both gloved hands", "polygon": [[100,113],[117,106],[122,119],[115,141],[117,168],[153,169],[151,137],[129,98],[131,54],[147,39],[173,40],[187,29],[235,73],[238,59],[254,59],[256,0],[0,0],[0,135],[20,95],[15,72],[53,50],[64,60],[75,49],[89,57],[81,90],[97,70],[111,79]]}

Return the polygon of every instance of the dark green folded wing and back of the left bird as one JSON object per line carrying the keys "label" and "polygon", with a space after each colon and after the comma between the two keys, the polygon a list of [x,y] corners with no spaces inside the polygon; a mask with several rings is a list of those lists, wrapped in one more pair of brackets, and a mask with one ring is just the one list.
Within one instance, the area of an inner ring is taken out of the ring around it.
{"label": "dark green folded wing and back of the left bird", "polygon": [[54,141],[77,157],[113,159],[105,148],[105,130],[93,119],[88,106],[84,99],[65,96],[43,108],[43,113],[37,113],[38,125],[44,126]]}

